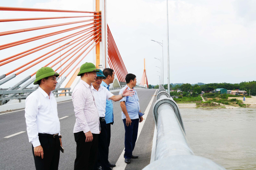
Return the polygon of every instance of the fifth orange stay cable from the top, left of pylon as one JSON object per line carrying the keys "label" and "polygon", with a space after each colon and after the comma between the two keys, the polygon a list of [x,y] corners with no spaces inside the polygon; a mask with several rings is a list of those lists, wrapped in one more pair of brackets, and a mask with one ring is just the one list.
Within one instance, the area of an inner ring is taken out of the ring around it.
{"label": "fifth orange stay cable from the top, left of pylon", "polygon": [[[20,59],[20,58],[22,58],[22,57],[25,57],[25,56],[27,56],[27,55],[29,55],[29,54],[35,53],[36,51],[40,51],[41,49],[47,48],[47,47],[49,47],[49,46],[51,46],[51,45],[54,45],[54,44],[56,44],[56,43],[58,43],[58,42],[61,42],[61,41],[67,40],[67,39],[69,39],[69,38],[75,37],[75,36],[77,36],[77,35],[79,35],[79,34],[82,34],[82,33],[86,32],[86,31],[90,31],[90,30],[92,30],[92,29],[94,29],[94,28],[84,29],[84,30],[78,31],[78,32],[76,32],[76,33],[67,35],[67,36],[65,36],[65,37],[61,37],[61,38],[59,38],[59,39],[57,39],[57,40],[53,40],[53,41],[51,41],[51,42],[47,42],[47,43],[45,43],[45,44],[43,44],[43,45],[39,45],[39,46],[37,46],[37,47],[35,47],[35,48],[31,48],[31,49],[29,49],[29,50],[23,51],[23,52],[21,52],[21,53],[19,53],[19,54],[15,54],[15,55],[13,55],[13,56],[11,56],[11,57],[7,57],[7,58],[5,58],[5,59],[2,59],[2,60],[0,60],[0,62],[6,61],[7,59],[10,59],[10,60],[1,63],[0,66],[5,65],[5,64],[7,64],[7,63],[9,63],[9,62],[12,62],[12,61],[14,61],[14,60],[16,60],[16,59]],[[70,36],[71,36],[71,37],[70,37]],[[51,44],[51,43],[52,43],[52,44]],[[45,45],[46,45],[46,46],[45,46]],[[34,51],[32,51],[32,50],[34,50]],[[29,52],[29,51],[31,51],[31,52]],[[28,53],[27,53],[27,52],[28,52]],[[26,53],[26,54],[24,54],[24,53]],[[23,54],[23,55],[21,55],[21,54]],[[19,55],[21,55],[21,56],[19,56]],[[16,56],[19,56],[19,57],[16,57]],[[16,57],[16,58],[14,58],[14,57]],[[14,59],[12,59],[12,58],[14,58]]]}

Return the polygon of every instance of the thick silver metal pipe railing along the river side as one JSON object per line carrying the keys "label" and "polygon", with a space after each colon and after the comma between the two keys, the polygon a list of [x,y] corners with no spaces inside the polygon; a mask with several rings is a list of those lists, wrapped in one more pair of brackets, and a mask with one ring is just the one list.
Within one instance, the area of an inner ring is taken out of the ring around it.
{"label": "thick silver metal pipe railing along the river side", "polygon": [[225,170],[210,159],[194,155],[176,102],[167,92],[158,91],[158,94],[161,95],[157,95],[153,107],[157,126],[155,157],[143,170]]}

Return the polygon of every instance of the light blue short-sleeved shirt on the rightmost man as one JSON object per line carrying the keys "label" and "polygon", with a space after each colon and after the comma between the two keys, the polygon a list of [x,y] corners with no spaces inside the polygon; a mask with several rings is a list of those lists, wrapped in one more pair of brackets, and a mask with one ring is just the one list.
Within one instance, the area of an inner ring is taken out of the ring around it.
{"label": "light blue short-sleeved shirt on the rightmost man", "polygon": [[[122,94],[122,92],[125,90],[125,88],[128,87],[128,85],[125,85],[124,88],[119,91],[119,94]],[[128,89],[131,89],[128,87]],[[133,88],[134,89],[134,88]],[[137,91],[134,89],[134,95],[133,96],[127,96],[123,97],[120,102],[125,102],[126,110],[128,112],[128,115],[131,119],[139,119],[139,111],[140,111],[140,103],[139,103],[139,97],[137,94]],[[122,119],[126,119],[125,114],[122,112]]]}

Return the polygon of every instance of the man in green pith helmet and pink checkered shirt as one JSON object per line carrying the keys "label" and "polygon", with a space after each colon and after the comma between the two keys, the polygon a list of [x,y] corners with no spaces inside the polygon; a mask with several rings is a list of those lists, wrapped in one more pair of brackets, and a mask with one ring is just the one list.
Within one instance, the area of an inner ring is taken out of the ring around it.
{"label": "man in green pith helmet and pink checkered shirt", "polygon": [[80,82],[72,93],[72,101],[76,116],[74,137],[76,141],[76,160],[74,170],[93,170],[98,152],[98,139],[101,130],[99,113],[94,102],[92,83],[99,69],[93,63],[86,62],[80,67],[77,76]]}

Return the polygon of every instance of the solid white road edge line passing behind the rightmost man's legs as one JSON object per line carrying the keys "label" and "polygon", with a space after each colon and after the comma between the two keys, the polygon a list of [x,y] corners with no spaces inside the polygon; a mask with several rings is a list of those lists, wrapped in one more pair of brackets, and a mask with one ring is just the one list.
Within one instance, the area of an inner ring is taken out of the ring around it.
{"label": "solid white road edge line passing behind the rightmost man's legs", "polygon": [[[147,116],[148,116],[148,112],[150,110],[151,104],[152,104],[152,102],[154,100],[154,96],[155,96],[156,93],[157,93],[157,90],[155,91],[154,95],[152,96],[152,98],[151,98],[151,100],[150,100],[150,102],[148,104],[148,107],[146,108],[146,110],[144,112],[145,114],[143,115],[143,118],[145,120],[143,120],[143,122],[139,123],[137,139],[139,139],[140,132],[141,132],[141,130],[143,128],[144,123],[146,122],[146,119],[147,119]],[[125,153],[125,149],[122,151],[121,155],[119,156],[119,159],[116,162],[116,167],[113,167],[113,170],[125,170],[125,167],[126,167],[127,164],[125,163],[124,153]]]}

